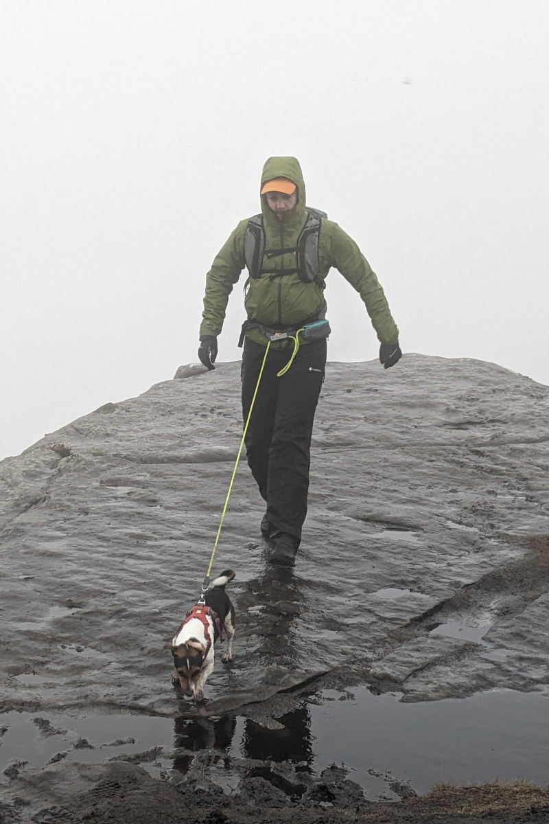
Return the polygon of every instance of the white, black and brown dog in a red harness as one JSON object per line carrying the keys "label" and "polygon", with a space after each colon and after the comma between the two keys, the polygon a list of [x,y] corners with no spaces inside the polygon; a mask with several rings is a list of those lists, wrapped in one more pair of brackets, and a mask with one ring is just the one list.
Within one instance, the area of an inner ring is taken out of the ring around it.
{"label": "white, black and brown dog in a red harness", "polygon": [[172,641],[175,667],[172,683],[195,701],[204,700],[204,686],[215,662],[214,644],[218,638],[223,640],[223,632],[226,633],[226,650],[221,661],[226,663],[233,659],[235,607],[225,592],[227,583],[233,578],[233,570],[226,569],[215,579],[204,594],[204,603],[198,603],[188,611]]}

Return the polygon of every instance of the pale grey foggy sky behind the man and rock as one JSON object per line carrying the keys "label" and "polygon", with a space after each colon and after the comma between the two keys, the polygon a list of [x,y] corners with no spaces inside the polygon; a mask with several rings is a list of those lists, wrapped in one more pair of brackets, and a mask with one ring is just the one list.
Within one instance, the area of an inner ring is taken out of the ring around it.
{"label": "pale grey foggy sky behind the man and rock", "polygon": [[[3,0],[0,457],[197,360],[272,154],[361,246],[404,351],[549,383],[547,42],[545,0]],[[375,358],[335,270],[327,297],[328,358]]]}

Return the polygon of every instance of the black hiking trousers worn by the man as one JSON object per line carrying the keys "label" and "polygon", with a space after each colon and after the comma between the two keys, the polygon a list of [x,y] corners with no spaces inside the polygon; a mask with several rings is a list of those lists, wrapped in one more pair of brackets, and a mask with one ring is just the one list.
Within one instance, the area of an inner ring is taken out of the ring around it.
{"label": "black hiking trousers worn by the man", "polygon": [[[248,465],[267,501],[271,534],[290,535],[295,546],[307,514],[310,442],[326,366],[326,340],[301,345],[282,377],[292,348],[269,349],[246,433]],[[254,397],[265,347],[249,338],[242,355],[244,423]]]}

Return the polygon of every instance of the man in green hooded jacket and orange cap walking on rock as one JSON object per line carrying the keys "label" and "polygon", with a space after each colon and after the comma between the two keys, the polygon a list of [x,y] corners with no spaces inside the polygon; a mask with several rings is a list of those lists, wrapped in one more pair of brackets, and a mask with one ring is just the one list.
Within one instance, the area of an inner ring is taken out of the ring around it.
{"label": "man in green hooded jacket and orange cap walking on rock", "polygon": [[383,289],[361,250],[337,223],[305,207],[305,183],[295,157],[270,157],[260,192],[261,215],[239,223],[207,274],[198,357],[208,369],[215,368],[227,301],[247,266],[244,421],[271,342],[245,446],[267,502],[261,531],[271,541],[270,560],[293,566],[307,514],[310,441],[326,364],[329,325],[323,290],[330,267],[365,302],[384,368],[397,363],[402,353]]}

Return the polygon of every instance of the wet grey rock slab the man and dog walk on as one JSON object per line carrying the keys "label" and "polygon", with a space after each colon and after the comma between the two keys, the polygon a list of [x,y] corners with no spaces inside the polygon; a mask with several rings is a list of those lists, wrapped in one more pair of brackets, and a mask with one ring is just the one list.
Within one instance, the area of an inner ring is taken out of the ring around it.
{"label": "wet grey rock slab the man and dog walk on", "polygon": [[[240,442],[240,364],[180,368],[0,463],[2,709],[193,710],[168,645],[199,594]],[[323,677],[407,701],[549,691],[549,387],[491,363],[329,363],[293,573],[245,460],[214,574],[235,661],[199,710]],[[328,673],[328,674],[327,674]]]}

